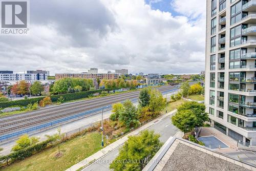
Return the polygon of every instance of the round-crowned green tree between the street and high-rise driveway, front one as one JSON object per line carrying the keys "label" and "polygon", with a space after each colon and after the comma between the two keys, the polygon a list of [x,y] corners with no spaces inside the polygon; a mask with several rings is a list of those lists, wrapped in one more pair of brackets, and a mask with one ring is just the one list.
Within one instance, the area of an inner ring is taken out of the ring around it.
{"label": "round-crowned green tree between the street and high-rise driveway, front one", "polygon": [[184,133],[185,138],[186,133],[191,132],[195,128],[196,121],[196,116],[190,110],[177,111],[176,114],[172,117],[173,124]]}

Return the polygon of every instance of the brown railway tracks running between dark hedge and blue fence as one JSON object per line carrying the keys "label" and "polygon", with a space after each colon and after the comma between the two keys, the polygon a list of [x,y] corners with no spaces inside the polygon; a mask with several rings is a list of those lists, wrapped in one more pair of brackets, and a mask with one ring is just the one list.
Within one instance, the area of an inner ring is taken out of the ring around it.
{"label": "brown railway tracks running between dark hedge and blue fence", "polygon": [[[161,87],[157,88],[159,91],[164,92],[174,87]],[[39,110],[37,112],[29,112],[22,115],[5,117],[4,120],[0,118],[0,134],[9,133],[11,131],[23,129],[25,127],[37,125],[39,123],[46,123],[54,121],[56,119],[65,118],[82,112],[86,112],[92,109],[101,108],[103,106],[111,105],[116,102],[123,101],[125,99],[137,98],[139,91],[130,92],[126,94],[113,95],[108,97],[102,97],[97,99],[80,101],[73,104],[65,104],[48,108],[46,110]],[[66,108],[65,108],[66,107]],[[79,108],[78,108],[79,107]],[[24,116],[26,115],[26,116]]]}

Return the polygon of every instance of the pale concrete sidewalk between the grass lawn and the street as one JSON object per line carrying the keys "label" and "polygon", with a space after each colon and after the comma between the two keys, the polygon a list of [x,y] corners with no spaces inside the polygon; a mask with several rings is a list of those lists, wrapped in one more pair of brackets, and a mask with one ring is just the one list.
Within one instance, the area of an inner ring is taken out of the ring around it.
{"label": "pale concrete sidewalk between the grass lawn and the street", "polygon": [[98,159],[102,158],[103,156],[107,155],[108,153],[112,152],[114,149],[116,149],[117,147],[122,145],[125,141],[127,141],[129,136],[135,136],[135,135],[140,134],[142,131],[145,131],[149,127],[153,126],[157,121],[160,121],[160,120],[162,120],[166,117],[169,117],[170,115],[173,115],[175,112],[176,112],[176,110],[174,110],[172,112],[169,112],[167,114],[163,114],[163,115],[159,116],[158,118],[144,124],[143,126],[139,127],[137,130],[125,135],[124,137],[122,137],[122,138],[118,139],[117,141],[113,142],[112,144],[102,148],[100,151],[93,154],[92,156],[89,156],[88,158],[86,158],[86,159],[80,161],[79,163],[71,166],[66,171],[75,171],[77,169],[80,169],[81,167],[85,167],[85,166],[89,165],[90,163],[92,163],[95,160],[98,160]]}

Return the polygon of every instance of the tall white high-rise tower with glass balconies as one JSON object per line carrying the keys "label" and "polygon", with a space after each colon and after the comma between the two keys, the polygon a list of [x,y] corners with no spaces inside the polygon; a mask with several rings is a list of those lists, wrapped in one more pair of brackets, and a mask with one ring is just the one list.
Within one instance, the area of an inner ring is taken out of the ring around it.
{"label": "tall white high-rise tower with glass balconies", "polygon": [[206,2],[205,104],[211,125],[256,145],[256,3]]}

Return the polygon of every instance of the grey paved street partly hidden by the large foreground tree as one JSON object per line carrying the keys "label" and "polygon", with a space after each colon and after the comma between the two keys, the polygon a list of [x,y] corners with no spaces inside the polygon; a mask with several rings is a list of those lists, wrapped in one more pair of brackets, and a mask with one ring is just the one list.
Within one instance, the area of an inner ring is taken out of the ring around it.
{"label": "grey paved street partly hidden by the large foreground tree", "polygon": [[[174,136],[179,130],[172,124],[170,117],[166,117],[165,119],[158,121],[156,124],[150,127],[149,130],[155,131],[155,133],[160,134],[160,140],[162,142],[166,142],[170,136]],[[120,146],[121,147],[121,146]],[[119,148],[120,148],[119,147]],[[92,170],[110,170],[109,165],[110,162],[113,161],[119,154],[119,148],[114,149],[108,155],[104,156],[97,162],[87,166],[82,169],[83,171],[92,171]]]}

